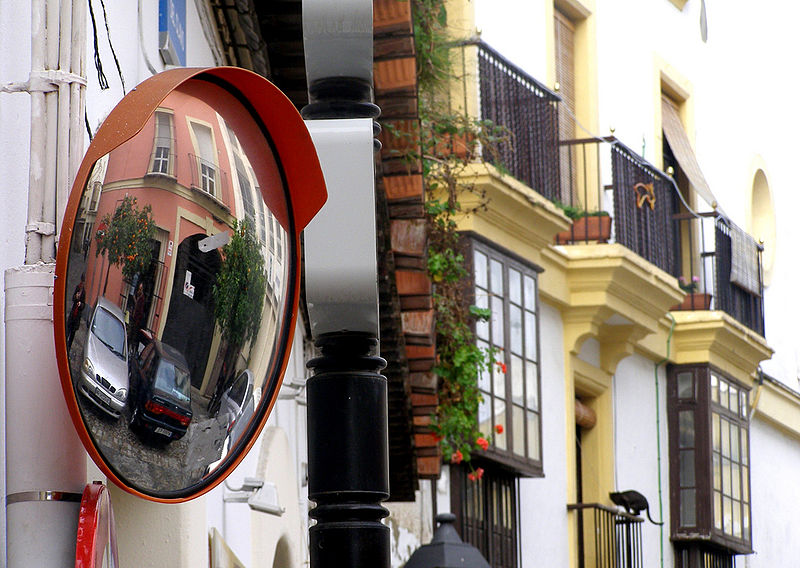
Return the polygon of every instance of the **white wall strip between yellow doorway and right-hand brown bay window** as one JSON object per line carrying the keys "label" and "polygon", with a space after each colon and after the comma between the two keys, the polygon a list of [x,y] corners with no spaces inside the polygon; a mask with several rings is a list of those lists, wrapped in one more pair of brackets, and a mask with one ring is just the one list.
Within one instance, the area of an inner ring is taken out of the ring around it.
{"label": "white wall strip between yellow doorway and right-hand brown bay window", "polygon": [[[667,433],[666,373],[658,369],[658,405],[656,416],[655,363],[641,355],[626,357],[614,375],[614,471],[616,491],[634,489],[643,494],[650,506],[650,516],[663,518],[663,530],[645,521],[642,525],[642,552],[645,566],[661,566],[659,540],[663,539],[665,568],[673,565],[669,541],[669,445]],[[659,423],[660,422],[660,423]],[[658,442],[661,444],[659,464]],[[659,509],[659,470],[661,502]],[[646,513],[642,513],[646,518]],[[662,517],[663,515],[663,517]]]}

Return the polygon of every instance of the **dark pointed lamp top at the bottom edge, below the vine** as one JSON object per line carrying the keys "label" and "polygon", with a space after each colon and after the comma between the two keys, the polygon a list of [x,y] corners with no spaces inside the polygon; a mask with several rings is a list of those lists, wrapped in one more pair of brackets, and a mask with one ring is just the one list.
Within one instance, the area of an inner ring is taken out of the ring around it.
{"label": "dark pointed lamp top at the bottom edge, below the vine", "polygon": [[491,568],[477,548],[461,540],[455,520],[452,513],[436,515],[433,540],[415,550],[405,568]]}

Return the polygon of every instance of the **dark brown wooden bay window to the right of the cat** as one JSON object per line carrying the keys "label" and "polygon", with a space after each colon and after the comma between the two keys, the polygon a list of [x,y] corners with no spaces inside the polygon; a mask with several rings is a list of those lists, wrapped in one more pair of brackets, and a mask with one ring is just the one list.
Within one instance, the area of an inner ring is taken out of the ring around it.
{"label": "dark brown wooden bay window to the right of the cat", "polygon": [[669,381],[670,483],[679,497],[672,503],[673,537],[747,553],[747,389],[708,365],[675,366]]}

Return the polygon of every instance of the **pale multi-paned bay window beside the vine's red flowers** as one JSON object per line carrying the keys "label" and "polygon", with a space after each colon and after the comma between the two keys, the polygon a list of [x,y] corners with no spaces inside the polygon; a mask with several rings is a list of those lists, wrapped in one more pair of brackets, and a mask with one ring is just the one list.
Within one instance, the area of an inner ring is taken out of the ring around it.
{"label": "pale multi-paned bay window beside the vine's red flowers", "polygon": [[542,474],[538,272],[480,241],[472,241],[475,305],[491,310],[475,327],[478,346],[495,351],[478,379],[479,428],[491,434],[487,455],[529,475]]}

